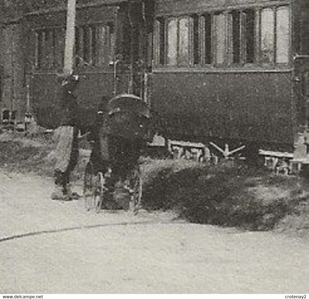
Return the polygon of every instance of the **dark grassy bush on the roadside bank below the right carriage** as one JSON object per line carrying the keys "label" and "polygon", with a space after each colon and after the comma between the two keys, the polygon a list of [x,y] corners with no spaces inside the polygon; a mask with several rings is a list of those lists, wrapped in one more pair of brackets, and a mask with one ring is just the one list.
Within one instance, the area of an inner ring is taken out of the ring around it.
{"label": "dark grassy bush on the roadside bank below the right carriage", "polygon": [[[165,165],[165,166],[164,166]],[[157,163],[146,177],[146,209],[174,209],[191,222],[270,230],[299,203],[294,177],[223,163]]]}

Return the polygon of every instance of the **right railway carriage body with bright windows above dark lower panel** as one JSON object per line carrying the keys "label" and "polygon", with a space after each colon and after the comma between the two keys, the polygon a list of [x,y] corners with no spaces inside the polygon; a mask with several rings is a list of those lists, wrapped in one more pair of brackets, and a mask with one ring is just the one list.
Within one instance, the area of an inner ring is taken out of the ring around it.
{"label": "right railway carriage body with bright windows above dark lower panel", "polygon": [[[170,138],[293,151],[305,1],[156,1],[151,103]],[[301,82],[300,82],[301,83]]]}

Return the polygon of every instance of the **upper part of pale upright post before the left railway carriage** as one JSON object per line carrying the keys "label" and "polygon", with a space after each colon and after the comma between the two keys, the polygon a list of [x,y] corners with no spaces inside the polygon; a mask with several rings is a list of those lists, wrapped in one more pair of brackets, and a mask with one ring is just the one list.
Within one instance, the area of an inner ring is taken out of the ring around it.
{"label": "upper part of pale upright post before the left railway carriage", "polygon": [[76,0],[68,0],[66,16],[66,46],[64,53],[63,73],[68,75],[73,72],[74,41],[75,41],[75,15]]}

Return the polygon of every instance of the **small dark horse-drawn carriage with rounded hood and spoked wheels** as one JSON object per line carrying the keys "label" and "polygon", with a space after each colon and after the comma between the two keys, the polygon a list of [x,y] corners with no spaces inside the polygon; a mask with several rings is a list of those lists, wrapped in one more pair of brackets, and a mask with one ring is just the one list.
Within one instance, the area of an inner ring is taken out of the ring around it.
{"label": "small dark horse-drawn carriage with rounded hood and spoked wheels", "polygon": [[148,105],[135,95],[117,95],[99,107],[84,175],[88,210],[138,210],[142,196],[139,159],[146,146],[149,118]]}

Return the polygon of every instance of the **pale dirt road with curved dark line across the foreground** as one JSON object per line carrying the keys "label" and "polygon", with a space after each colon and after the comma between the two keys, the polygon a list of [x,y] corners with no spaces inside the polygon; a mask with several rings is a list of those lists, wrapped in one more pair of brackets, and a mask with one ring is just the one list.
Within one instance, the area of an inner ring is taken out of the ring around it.
{"label": "pale dirt road with curved dark line across the foreground", "polygon": [[309,243],[49,200],[0,171],[0,293],[309,293]]}

